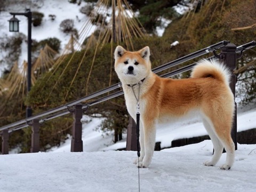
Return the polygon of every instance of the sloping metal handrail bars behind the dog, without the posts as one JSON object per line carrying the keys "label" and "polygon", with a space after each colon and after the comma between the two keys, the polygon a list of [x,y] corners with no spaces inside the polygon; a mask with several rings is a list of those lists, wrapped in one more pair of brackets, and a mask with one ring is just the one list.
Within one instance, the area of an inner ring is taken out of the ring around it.
{"label": "sloping metal handrail bars behind the dog, without the posts", "polygon": [[[190,54],[188,54],[188,55],[186,55],[184,57],[181,57],[181,58],[176,59],[174,61],[165,63],[162,66],[154,68],[152,71],[154,73],[159,73],[160,71],[163,71],[165,69],[171,68],[171,67],[176,66],[176,65],[179,65],[182,62],[185,62],[185,61],[188,61],[188,60],[200,57],[200,56],[202,56],[204,54],[216,51],[216,50],[220,49],[221,47],[226,46],[227,44],[228,44],[228,41],[226,41],[226,40],[221,41],[219,43],[216,43],[216,44],[213,44],[211,46],[205,47],[202,50],[190,53]],[[238,46],[237,47],[237,52],[243,52],[243,51],[245,51],[247,49],[251,49],[254,46],[256,46],[256,42],[255,41],[246,43],[244,45]],[[211,58],[214,58],[214,56],[211,57]],[[196,63],[193,63],[191,65],[188,65],[188,66],[182,67],[180,69],[177,69],[177,70],[171,71],[169,73],[166,73],[164,75],[161,75],[161,77],[171,77],[171,76],[183,73],[185,71],[188,71],[188,70],[192,69],[195,65],[196,65]],[[116,90],[116,89],[118,89],[121,86],[122,86],[121,83],[117,83],[117,84],[111,85],[111,86],[109,86],[109,87],[107,87],[105,89],[102,89],[100,91],[94,92],[94,93],[89,94],[89,95],[86,95],[83,98],[77,99],[75,101],[71,101],[71,102],[67,103],[66,105],[62,105],[60,107],[56,107],[56,108],[47,110],[47,111],[45,111],[43,113],[40,113],[40,114],[31,116],[31,117],[28,117],[26,119],[22,119],[20,121],[11,123],[9,125],[2,126],[2,127],[0,127],[0,131],[6,130],[6,129],[10,129],[9,132],[12,132],[12,131],[23,129],[25,127],[30,126],[29,122],[33,121],[34,119],[39,119],[39,122],[43,123],[45,121],[49,121],[50,119],[57,118],[57,117],[60,117],[60,116],[63,116],[63,115],[67,115],[67,114],[70,113],[69,108],[73,107],[77,103],[93,99],[95,97],[98,97],[98,96],[103,95],[105,93],[108,93],[110,91]],[[122,94],[123,94],[123,91],[117,91],[115,93],[109,94],[109,95],[107,95],[105,97],[102,97],[102,98],[99,98],[97,100],[94,100],[94,101],[91,101],[91,102],[87,102],[87,103],[85,103],[83,105],[82,108],[86,109],[86,108],[88,108],[90,106],[93,106],[93,105],[96,105],[96,104],[98,104],[100,102],[103,102],[103,101],[106,101],[106,100],[118,97],[119,95],[122,95]],[[42,117],[44,117],[44,118],[42,118]]]}

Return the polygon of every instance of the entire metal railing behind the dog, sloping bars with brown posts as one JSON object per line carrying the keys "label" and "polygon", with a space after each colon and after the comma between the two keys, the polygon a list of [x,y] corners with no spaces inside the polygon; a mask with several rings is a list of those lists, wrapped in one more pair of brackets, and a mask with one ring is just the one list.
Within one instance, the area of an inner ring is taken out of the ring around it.
{"label": "entire metal railing behind the dog, sloping bars with brown posts", "polygon": [[[231,46],[231,48],[230,48]],[[163,71],[165,69],[169,69],[171,67],[177,66],[185,61],[189,61],[191,59],[195,59],[197,57],[200,57],[202,55],[205,55],[207,53],[213,53],[214,56],[211,58],[218,58],[222,59],[226,65],[229,66],[230,70],[233,71],[235,69],[236,65],[236,59],[238,59],[237,55],[239,57],[242,57],[243,51],[247,49],[251,49],[252,47],[256,46],[256,42],[252,41],[249,43],[246,43],[241,46],[236,46],[234,44],[230,44],[228,41],[221,41],[219,43],[210,45],[208,47],[205,47],[202,50],[196,51],[194,53],[190,53],[184,57],[181,57],[179,59],[176,59],[174,61],[165,63],[162,66],[154,68],[152,71],[154,73],[159,73],[160,71]],[[229,47],[228,49],[226,49]],[[221,53],[218,55],[215,51],[221,49]],[[226,49],[226,52],[225,52]],[[230,55],[233,55],[233,59],[230,59]],[[229,58],[229,59],[227,59]],[[232,63],[230,64],[229,61]],[[161,75],[162,77],[171,77],[180,73],[183,73],[185,71],[191,70],[196,63],[193,63],[191,65],[182,67],[180,69],[171,71],[169,73],[166,73],[164,75]],[[232,67],[233,66],[233,67]],[[234,84],[235,84],[235,78],[234,79]],[[81,123],[81,118],[82,118],[82,113],[83,111],[87,110],[87,108],[97,105],[98,103],[107,101],[109,99],[113,99],[118,97],[119,95],[123,94],[123,91],[117,91],[115,93],[111,93],[109,95],[106,95],[104,97],[101,97],[99,99],[95,99],[99,96],[102,96],[103,94],[109,93],[110,91],[119,89],[121,87],[121,83],[117,83],[114,85],[111,85],[109,87],[106,87],[105,89],[102,89],[100,91],[94,92],[92,94],[86,95],[83,98],[77,99],[75,101],[69,102],[66,105],[62,105],[50,110],[47,110],[43,113],[22,119],[20,121],[11,123],[9,125],[5,125],[0,127],[0,134],[2,135],[2,154],[8,154],[9,153],[9,133],[13,131],[17,131],[20,129],[23,129],[25,127],[31,126],[31,129],[33,131],[32,136],[31,136],[31,152],[37,152],[39,151],[39,126],[40,124],[43,124],[45,121],[49,121],[53,118],[61,117],[63,115],[67,115],[70,113],[73,113],[73,118],[74,118],[74,123],[73,123],[73,136],[72,136],[72,142],[71,142],[71,151],[83,151],[83,146],[82,146],[82,123]],[[233,85],[234,86],[234,85]],[[233,90],[234,91],[234,90]],[[233,92],[234,93],[234,92]],[[85,102],[91,99],[95,99],[93,101],[89,101],[84,103],[83,105],[81,102]],[[79,111],[79,112],[78,112]],[[80,118],[80,119],[79,119]],[[236,118],[236,117],[235,117]],[[130,122],[130,121],[129,121]],[[134,126],[128,126],[128,127],[134,127]],[[234,130],[234,129],[233,129]],[[236,129],[235,129],[236,130]],[[133,150],[133,146],[131,144],[132,141],[132,136],[135,135],[132,132],[133,130],[128,130],[127,132],[127,146],[126,148],[129,150]],[[131,133],[131,134],[130,134]],[[236,136],[235,136],[236,137]],[[234,138],[235,139],[235,138]],[[136,150],[136,149],[134,149]]]}

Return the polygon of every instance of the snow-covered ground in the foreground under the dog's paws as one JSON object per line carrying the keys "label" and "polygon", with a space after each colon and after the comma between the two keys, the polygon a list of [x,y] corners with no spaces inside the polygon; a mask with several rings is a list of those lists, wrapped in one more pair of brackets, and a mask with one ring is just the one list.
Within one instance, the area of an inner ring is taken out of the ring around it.
{"label": "snow-covered ground in the foreground under the dog's paws", "polygon": [[[238,145],[231,170],[203,162],[211,158],[210,140],[155,151],[153,162],[140,169],[141,191],[246,191],[256,189],[256,145]],[[34,153],[2,155],[1,192],[139,191],[135,151]]]}

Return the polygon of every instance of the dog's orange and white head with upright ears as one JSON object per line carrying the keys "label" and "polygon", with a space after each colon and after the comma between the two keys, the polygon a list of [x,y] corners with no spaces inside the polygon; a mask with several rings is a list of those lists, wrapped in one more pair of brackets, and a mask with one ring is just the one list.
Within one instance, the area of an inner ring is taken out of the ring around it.
{"label": "dog's orange and white head with upright ears", "polygon": [[115,71],[121,82],[135,84],[146,78],[151,71],[149,56],[148,46],[135,52],[126,51],[122,46],[117,46],[114,53]]}

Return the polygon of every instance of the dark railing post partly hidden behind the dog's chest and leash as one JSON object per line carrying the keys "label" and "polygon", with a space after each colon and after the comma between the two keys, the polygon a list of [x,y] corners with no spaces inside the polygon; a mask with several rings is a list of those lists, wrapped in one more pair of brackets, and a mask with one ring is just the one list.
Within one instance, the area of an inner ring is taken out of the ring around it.
{"label": "dark railing post partly hidden behind the dog's chest and leash", "polygon": [[129,124],[127,127],[127,138],[126,138],[126,150],[137,151],[137,139],[136,139],[136,123],[133,118],[129,115]]}

